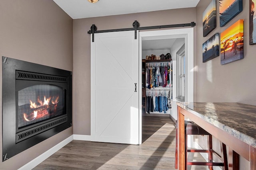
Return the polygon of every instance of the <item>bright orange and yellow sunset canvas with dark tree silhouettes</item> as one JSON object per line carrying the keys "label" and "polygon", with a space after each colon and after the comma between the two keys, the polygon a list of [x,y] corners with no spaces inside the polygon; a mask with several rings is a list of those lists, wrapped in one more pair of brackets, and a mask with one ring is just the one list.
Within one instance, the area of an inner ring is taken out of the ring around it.
{"label": "bright orange and yellow sunset canvas with dark tree silhouettes", "polygon": [[220,64],[244,58],[244,20],[238,20],[220,34]]}

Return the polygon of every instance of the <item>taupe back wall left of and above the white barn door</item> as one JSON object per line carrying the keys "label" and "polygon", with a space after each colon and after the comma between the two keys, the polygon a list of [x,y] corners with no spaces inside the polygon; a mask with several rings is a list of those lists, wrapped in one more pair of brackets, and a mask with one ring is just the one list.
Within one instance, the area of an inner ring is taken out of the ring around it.
{"label": "taupe back wall left of and above the white barn door", "polygon": [[186,8],[186,12],[184,9],[164,10],[73,21],[74,134],[90,135],[90,35],[87,31],[92,24],[98,30],[130,28],[135,20],[140,27],[190,23],[196,21],[196,8]]}

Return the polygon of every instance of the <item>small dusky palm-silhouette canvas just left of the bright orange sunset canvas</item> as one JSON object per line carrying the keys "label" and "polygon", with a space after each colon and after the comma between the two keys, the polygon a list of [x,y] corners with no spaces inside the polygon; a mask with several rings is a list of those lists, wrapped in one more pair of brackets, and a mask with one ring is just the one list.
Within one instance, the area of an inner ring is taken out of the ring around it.
{"label": "small dusky palm-silhouette canvas just left of the bright orange sunset canvas", "polygon": [[203,63],[220,55],[220,35],[214,34],[203,43]]}

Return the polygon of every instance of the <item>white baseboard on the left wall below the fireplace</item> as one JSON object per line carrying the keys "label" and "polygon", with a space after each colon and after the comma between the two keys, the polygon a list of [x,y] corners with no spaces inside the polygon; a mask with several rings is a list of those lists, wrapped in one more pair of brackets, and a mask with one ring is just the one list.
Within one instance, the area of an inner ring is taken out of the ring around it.
{"label": "white baseboard on the left wall below the fireplace", "polygon": [[52,154],[54,154],[55,152],[60,150],[62,147],[64,147],[65,145],[67,145],[71,141],[73,141],[73,135],[71,135],[67,139],[61,141],[60,143],[58,143],[57,145],[55,145],[51,149],[47,150],[46,152],[40,154],[39,156],[37,156],[36,158],[34,158],[33,160],[31,160],[30,162],[25,164],[24,166],[22,166],[18,170],[30,170],[30,169],[36,167],[38,164],[40,164],[41,162],[46,160],[48,157],[50,157]]}

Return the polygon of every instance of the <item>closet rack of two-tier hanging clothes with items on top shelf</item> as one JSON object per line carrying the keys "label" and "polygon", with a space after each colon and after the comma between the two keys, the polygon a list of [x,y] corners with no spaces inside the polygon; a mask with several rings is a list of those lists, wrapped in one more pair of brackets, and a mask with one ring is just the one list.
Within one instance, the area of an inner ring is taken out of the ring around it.
{"label": "closet rack of two-tier hanging clothes with items on top shelf", "polygon": [[162,59],[142,60],[142,113],[145,115],[169,116],[172,108],[172,59],[170,53],[167,55]]}

